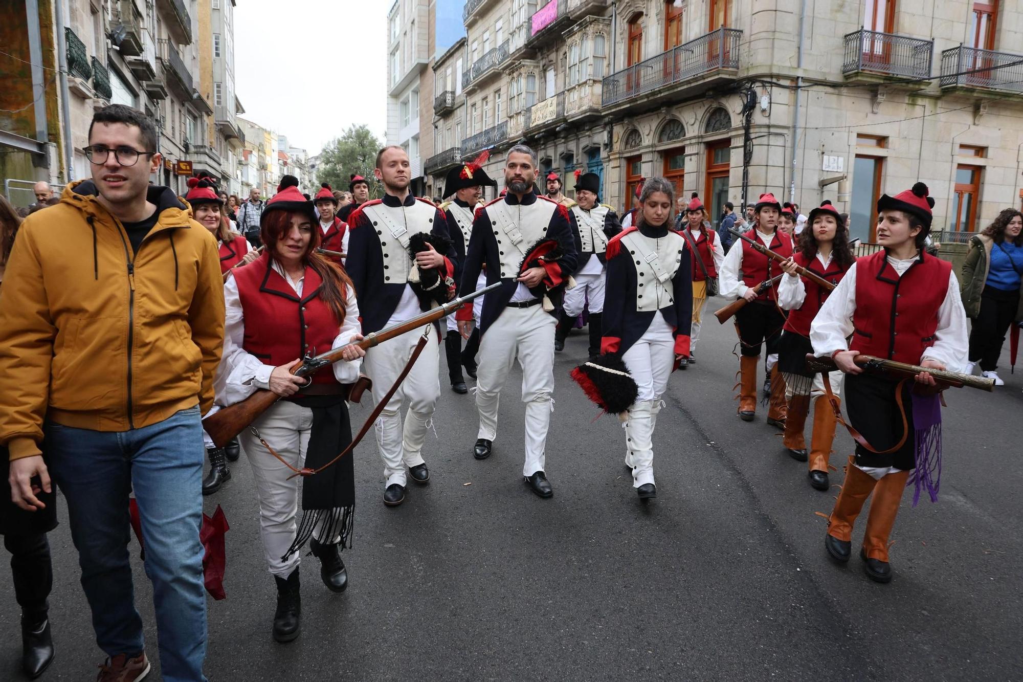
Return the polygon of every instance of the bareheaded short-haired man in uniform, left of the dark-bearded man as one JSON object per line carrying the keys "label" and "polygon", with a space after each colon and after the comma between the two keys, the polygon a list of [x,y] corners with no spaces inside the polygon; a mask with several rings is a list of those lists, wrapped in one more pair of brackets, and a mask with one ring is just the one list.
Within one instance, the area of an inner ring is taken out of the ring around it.
{"label": "bareheaded short-haired man in uniform, left of the dark-bearded man", "polygon": [[[400,146],[384,147],[376,154],[373,172],[384,184],[384,198],[361,204],[352,213],[345,263],[359,297],[365,335],[447,302],[455,293],[457,260],[444,214],[408,189],[408,154]],[[376,421],[376,444],[387,477],[384,504],[389,507],[405,501],[406,466],[416,483],[430,480],[422,445],[441,393],[440,328],[435,327],[437,334],[429,335],[427,347]],[[401,375],[421,333],[415,329],[366,351],[362,367],[372,380],[376,402]],[[402,402],[408,407],[404,426]]]}

